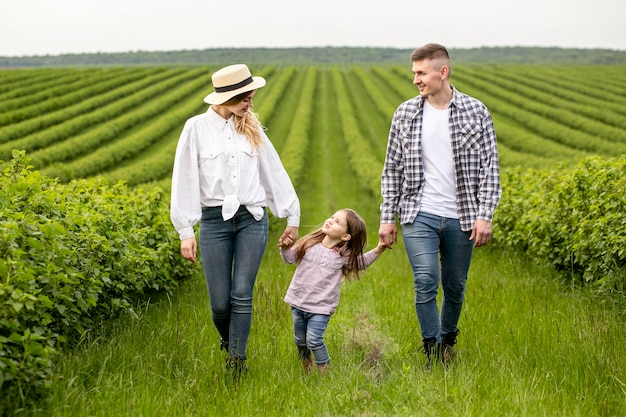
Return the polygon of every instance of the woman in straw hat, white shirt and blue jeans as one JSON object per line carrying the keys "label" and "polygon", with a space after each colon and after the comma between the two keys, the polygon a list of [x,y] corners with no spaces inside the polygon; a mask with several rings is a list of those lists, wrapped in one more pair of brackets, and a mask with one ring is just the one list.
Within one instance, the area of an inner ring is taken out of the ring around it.
{"label": "woman in straw hat, white shirt and blue jeans", "polygon": [[180,135],[172,173],[171,221],[180,235],[181,254],[195,262],[194,226],[199,222],[200,253],[211,314],[236,377],[246,370],[254,282],[265,251],[265,207],[287,218],[280,242],[298,237],[300,203],[278,153],[256,114],[250,111],[265,79],[244,64],[212,76],[209,109],[191,117]]}

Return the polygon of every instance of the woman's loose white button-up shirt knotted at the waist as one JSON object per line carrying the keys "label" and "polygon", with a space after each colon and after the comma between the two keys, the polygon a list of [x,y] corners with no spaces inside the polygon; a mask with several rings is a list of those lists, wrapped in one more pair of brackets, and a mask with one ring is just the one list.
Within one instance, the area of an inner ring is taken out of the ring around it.
{"label": "woman's loose white button-up shirt knotted at the waist", "polygon": [[234,118],[213,109],[187,120],[172,172],[170,219],[181,240],[194,236],[203,207],[222,207],[224,220],[241,205],[257,219],[266,206],[288,226],[300,223],[300,202],[289,175],[265,132],[253,148],[235,131]]}

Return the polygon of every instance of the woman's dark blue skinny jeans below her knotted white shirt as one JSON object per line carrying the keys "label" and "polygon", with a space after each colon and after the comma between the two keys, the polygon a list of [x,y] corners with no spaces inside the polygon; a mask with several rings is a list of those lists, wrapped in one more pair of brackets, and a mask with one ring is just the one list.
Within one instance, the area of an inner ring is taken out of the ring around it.
{"label": "woman's dark blue skinny jeans below her knotted white shirt", "polygon": [[200,253],[213,323],[228,342],[228,355],[246,359],[254,282],[265,252],[267,214],[256,221],[245,207],[222,219],[221,207],[202,210]]}

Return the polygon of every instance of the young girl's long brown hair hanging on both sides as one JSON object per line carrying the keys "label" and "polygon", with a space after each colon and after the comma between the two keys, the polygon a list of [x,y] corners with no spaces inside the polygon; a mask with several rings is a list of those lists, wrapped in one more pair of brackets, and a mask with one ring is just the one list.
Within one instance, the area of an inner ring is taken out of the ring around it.
{"label": "young girl's long brown hair hanging on both sides", "polygon": [[[339,211],[346,213],[346,223],[348,225],[348,234],[351,238],[347,241],[341,241],[334,249],[341,256],[347,256],[348,262],[343,266],[343,275],[348,279],[359,279],[359,271],[363,269],[363,265],[359,262],[359,256],[363,255],[363,250],[367,244],[367,229],[365,222],[354,210],[345,208]],[[296,262],[300,262],[304,257],[304,253],[313,245],[324,240],[324,232],[319,228],[308,235],[303,236],[295,244]]]}

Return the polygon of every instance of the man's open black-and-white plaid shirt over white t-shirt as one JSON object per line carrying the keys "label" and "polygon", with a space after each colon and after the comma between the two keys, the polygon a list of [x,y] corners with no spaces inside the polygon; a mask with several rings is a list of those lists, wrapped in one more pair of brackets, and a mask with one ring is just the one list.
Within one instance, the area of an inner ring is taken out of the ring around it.
{"label": "man's open black-and-white plaid shirt over white t-shirt", "polygon": [[[451,86],[450,137],[454,155],[456,202],[461,229],[472,230],[477,219],[491,221],[500,201],[500,167],[493,120],[479,100]],[[421,96],[402,103],[393,115],[381,177],[380,222],[412,223],[424,188],[421,154]]]}

